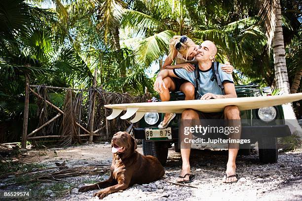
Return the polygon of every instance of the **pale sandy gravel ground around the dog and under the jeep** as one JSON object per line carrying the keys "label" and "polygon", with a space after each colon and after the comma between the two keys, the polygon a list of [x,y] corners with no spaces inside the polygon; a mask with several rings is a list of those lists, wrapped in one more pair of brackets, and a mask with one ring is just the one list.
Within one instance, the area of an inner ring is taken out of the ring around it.
{"label": "pale sandy gravel ground around the dog and under the jeep", "polygon": [[[23,162],[54,165],[66,162],[68,167],[76,165],[110,164],[112,153],[109,144],[91,144],[68,148],[51,148],[27,151]],[[142,145],[138,145],[142,153]],[[302,150],[279,153],[278,163],[261,164],[257,155],[238,156],[237,173],[239,181],[233,184],[222,183],[223,172],[227,163],[227,151],[192,150],[190,156],[191,172],[195,180],[191,183],[198,188],[182,187],[159,180],[150,184],[134,185],[128,189],[108,195],[104,201],[302,201]],[[180,153],[169,149],[165,166],[168,180],[175,180],[181,171]],[[108,175],[108,173],[107,173]],[[91,201],[97,192],[78,193],[77,189],[85,179],[104,180],[108,176],[87,175],[66,178],[74,183],[73,189],[63,198],[46,196],[43,200]],[[49,189],[49,184],[42,183],[38,188]],[[21,187],[23,188],[23,187]],[[26,187],[24,187],[26,188]]]}

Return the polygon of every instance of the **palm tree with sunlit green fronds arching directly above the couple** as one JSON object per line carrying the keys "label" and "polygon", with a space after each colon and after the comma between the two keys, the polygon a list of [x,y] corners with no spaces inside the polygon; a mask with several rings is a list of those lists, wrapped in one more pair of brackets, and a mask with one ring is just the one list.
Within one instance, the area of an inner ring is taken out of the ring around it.
{"label": "palm tree with sunlit green fronds arching directly above the couple", "polygon": [[142,36],[135,55],[144,65],[149,66],[167,54],[169,39],[174,34],[189,35],[196,42],[213,40],[219,48],[219,61],[229,58],[236,69],[242,70],[249,68],[258,56],[257,49],[264,46],[264,34],[257,27],[257,19],[249,17],[248,3],[235,3],[238,8],[234,8],[232,0],[139,2],[126,10],[121,27],[130,27],[131,34]]}

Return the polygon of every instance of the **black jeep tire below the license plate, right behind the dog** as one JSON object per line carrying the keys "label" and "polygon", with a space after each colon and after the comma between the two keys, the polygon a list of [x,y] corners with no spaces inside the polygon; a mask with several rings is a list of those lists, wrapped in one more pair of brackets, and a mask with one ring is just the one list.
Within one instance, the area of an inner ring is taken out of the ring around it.
{"label": "black jeep tire below the license plate, right behind the dog", "polygon": [[143,153],[145,156],[151,155],[158,159],[162,166],[167,162],[169,142],[146,141],[143,139]]}

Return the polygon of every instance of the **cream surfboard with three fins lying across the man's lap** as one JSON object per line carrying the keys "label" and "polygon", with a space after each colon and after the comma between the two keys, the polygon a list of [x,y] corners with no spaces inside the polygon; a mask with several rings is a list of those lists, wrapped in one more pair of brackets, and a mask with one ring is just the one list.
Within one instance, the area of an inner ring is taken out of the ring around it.
{"label": "cream surfboard with three fins lying across the man's lap", "polygon": [[302,100],[302,93],[229,99],[177,100],[162,102],[108,104],[104,106],[113,109],[112,114],[107,117],[108,120],[116,118],[123,110],[127,110],[127,112],[120,118],[128,119],[135,114],[135,117],[130,121],[132,123],[135,123],[143,118],[146,112],[182,113],[186,109],[195,109],[201,112],[221,112],[228,105],[236,105],[240,110],[249,110],[280,105],[298,100]]}

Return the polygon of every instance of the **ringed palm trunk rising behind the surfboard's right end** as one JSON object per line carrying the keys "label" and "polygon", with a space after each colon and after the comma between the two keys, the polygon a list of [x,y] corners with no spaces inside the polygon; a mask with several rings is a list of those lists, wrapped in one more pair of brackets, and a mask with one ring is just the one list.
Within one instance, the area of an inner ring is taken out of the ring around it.
{"label": "ringed palm trunk rising behind the surfboard's right end", "polygon": [[[290,94],[290,87],[289,87],[286,60],[285,60],[285,48],[284,48],[283,31],[282,31],[280,0],[277,0],[276,9],[277,9],[276,30],[274,32],[274,37],[272,39],[276,87],[281,89],[283,94]],[[298,124],[296,115],[293,110],[292,103],[283,104],[282,107],[284,112],[284,119],[290,120],[290,121],[286,121],[286,123],[288,123],[291,132],[293,133],[298,131],[299,135],[302,136],[301,127]]]}

